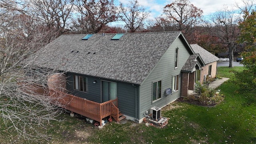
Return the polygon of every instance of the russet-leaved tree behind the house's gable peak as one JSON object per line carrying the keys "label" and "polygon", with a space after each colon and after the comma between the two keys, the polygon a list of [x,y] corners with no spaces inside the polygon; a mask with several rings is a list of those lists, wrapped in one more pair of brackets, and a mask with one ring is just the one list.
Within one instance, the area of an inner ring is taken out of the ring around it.
{"label": "russet-leaved tree behind the house's gable peak", "polygon": [[176,30],[188,37],[193,27],[202,22],[203,11],[190,3],[189,0],[175,0],[164,7],[165,17],[176,22]]}

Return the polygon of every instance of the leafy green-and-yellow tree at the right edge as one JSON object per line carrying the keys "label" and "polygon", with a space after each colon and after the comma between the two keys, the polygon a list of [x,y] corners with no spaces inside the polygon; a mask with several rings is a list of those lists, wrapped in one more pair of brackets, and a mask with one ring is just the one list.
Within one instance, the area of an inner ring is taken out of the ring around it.
{"label": "leafy green-and-yellow tree at the right edge", "polygon": [[238,43],[243,43],[242,52],[245,70],[235,73],[235,82],[239,85],[239,92],[248,98],[248,104],[256,102],[256,11],[244,14],[244,21],[239,23],[241,29]]}

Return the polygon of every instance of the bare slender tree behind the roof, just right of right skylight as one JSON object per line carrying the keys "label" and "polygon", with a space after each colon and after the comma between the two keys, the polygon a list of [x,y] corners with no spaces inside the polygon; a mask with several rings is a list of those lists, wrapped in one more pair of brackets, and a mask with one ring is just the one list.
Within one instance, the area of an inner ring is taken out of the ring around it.
{"label": "bare slender tree behind the roof, just right of right skylight", "polygon": [[128,28],[129,32],[144,30],[144,22],[150,12],[146,11],[146,9],[139,4],[138,0],[129,2],[127,6],[120,3],[120,20],[125,23],[124,27]]}

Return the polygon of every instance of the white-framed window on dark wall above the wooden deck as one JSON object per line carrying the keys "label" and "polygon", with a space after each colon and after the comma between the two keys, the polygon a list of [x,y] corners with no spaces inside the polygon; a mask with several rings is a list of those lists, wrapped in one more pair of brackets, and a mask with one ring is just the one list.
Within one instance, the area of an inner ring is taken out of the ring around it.
{"label": "white-framed window on dark wall above the wooden deck", "polygon": [[88,92],[88,78],[74,75],[74,89]]}

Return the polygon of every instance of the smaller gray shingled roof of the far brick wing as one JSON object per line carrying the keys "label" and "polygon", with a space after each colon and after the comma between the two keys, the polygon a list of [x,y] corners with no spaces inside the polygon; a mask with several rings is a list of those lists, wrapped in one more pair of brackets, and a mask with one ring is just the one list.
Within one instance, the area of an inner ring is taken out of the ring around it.
{"label": "smaller gray shingled roof of the far brick wing", "polygon": [[220,58],[218,58],[217,56],[214,56],[213,54],[211,54],[210,52],[208,52],[201,46],[198,46],[197,44],[190,44],[190,46],[194,50],[195,53],[200,54],[204,64],[209,64],[211,62],[220,60]]}

